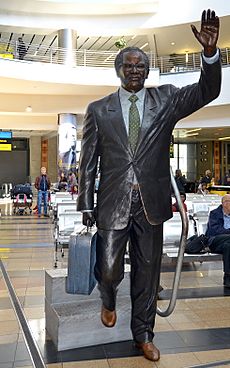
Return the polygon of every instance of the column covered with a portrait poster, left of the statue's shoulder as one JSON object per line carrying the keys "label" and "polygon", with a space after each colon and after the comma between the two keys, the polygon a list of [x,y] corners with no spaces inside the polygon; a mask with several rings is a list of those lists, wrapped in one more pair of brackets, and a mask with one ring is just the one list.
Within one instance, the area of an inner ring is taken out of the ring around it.
{"label": "column covered with a portrait poster, left of the statue's shoulder", "polygon": [[76,173],[77,116],[58,115],[58,174]]}

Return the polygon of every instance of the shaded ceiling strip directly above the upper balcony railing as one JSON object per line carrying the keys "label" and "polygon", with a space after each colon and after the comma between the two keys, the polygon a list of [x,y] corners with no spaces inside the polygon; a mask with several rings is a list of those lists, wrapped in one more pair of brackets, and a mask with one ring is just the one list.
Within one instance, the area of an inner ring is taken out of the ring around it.
{"label": "shaded ceiling strip directly above the upper balcony railing", "polygon": [[[193,22],[199,28],[200,22]],[[221,17],[221,31],[218,45],[220,48],[230,47],[230,15]],[[133,30],[132,30],[133,31]],[[0,25],[0,42],[14,42],[22,36],[28,47],[38,46],[43,53],[51,46],[58,46],[58,30],[56,32],[44,33],[37,28],[24,28]],[[184,54],[199,52],[200,45],[194,38],[189,23],[165,26],[152,29],[139,29],[127,34],[91,35],[77,34],[76,49],[78,50],[100,50],[117,51],[115,41],[124,36],[127,46],[142,47],[145,52],[154,51],[157,56],[165,56],[171,53]],[[174,43],[172,45],[171,43]]]}

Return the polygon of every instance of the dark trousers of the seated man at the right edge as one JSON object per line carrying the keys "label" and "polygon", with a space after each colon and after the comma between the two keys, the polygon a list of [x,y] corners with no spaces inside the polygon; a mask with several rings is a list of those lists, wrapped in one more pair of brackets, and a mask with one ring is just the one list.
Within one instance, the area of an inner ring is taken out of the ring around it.
{"label": "dark trousers of the seated man at the right edge", "polygon": [[224,273],[230,274],[230,234],[214,236],[209,248],[212,253],[223,254]]}

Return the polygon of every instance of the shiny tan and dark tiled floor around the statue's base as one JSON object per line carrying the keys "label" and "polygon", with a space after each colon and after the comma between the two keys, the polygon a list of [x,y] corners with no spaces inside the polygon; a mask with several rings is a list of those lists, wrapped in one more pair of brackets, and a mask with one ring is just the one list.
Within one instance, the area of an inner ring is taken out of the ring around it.
{"label": "shiny tan and dark tiled floor around the statue's base", "polygon": [[[29,327],[49,367],[182,368],[230,367],[230,289],[222,285],[222,262],[185,263],[175,311],[157,317],[157,363],[147,361],[132,341],[57,352],[45,332],[44,272],[53,268],[53,224],[35,215],[13,216],[0,204],[0,258]],[[58,267],[66,267],[67,252]],[[163,264],[159,306],[168,305],[175,265]],[[22,330],[0,272],[0,368],[32,367]]]}

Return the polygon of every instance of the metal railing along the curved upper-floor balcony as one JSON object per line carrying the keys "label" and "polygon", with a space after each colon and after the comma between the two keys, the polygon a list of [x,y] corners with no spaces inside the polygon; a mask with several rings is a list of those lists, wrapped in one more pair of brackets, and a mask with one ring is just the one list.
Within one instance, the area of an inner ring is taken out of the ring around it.
{"label": "metal railing along the curved upper-floor balcony", "polygon": [[[113,68],[115,51],[67,50],[45,45],[25,44],[24,61],[64,64],[71,67]],[[153,52],[147,52],[150,68],[159,68],[160,74],[194,71],[200,68],[200,53],[171,54],[157,57]],[[0,40],[0,57],[19,60],[18,41]],[[221,49],[223,65],[230,64],[230,48]]]}

